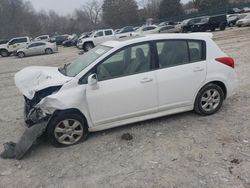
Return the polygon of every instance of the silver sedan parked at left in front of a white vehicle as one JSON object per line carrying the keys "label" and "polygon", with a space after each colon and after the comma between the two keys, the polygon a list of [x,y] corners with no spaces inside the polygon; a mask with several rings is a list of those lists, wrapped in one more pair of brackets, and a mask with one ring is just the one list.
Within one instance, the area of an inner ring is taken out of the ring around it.
{"label": "silver sedan parked at left in front of a white vehicle", "polygon": [[52,54],[57,52],[58,48],[55,43],[50,42],[32,42],[26,48],[17,50],[17,56],[23,58],[26,56],[40,55],[40,54]]}

